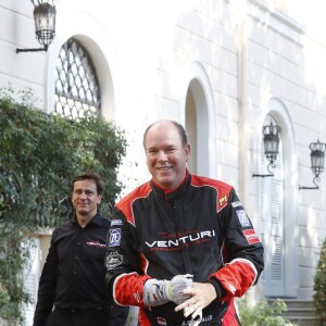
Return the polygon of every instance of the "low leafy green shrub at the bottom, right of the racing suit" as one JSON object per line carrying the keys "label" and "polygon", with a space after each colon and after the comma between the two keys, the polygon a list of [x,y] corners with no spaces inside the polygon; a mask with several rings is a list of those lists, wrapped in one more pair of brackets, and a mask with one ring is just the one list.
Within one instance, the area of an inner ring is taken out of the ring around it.
{"label": "low leafy green shrub at the bottom, right of the racing suit", "polygon": [[243,298],[238,301],[238,305],[242,326],[294,326],[281,316],[281,313],[287,310],[281,299],[276,299],[271,303],[262,299],[254,306],[250,306]]}

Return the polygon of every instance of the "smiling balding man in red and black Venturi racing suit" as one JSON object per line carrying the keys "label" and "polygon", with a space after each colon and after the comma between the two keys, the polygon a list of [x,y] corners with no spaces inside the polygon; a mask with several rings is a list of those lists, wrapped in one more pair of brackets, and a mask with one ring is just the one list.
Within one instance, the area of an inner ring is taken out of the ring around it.
{"label": "smiling balding man in red and black Venturi racing suit", "polygon": [[263,247],[235,189],[191,175],[185,128],[159,121],[143,135],[152,179],[115,205],[106,284],[141,326],[240,325],[235,297],[256,284]]}

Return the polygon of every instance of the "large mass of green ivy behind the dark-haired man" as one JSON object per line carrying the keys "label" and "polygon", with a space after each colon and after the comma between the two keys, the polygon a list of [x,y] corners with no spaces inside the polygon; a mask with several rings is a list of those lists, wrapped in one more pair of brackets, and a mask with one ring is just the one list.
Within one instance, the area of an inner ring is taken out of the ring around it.
{"label": "large mass of green ivy behind the dark-haired man", "polygon": [[0,90],[0,317],[20,321],[28,302],[22,271],[29,250],[22,243],[40,228],[72,215],[71,180],[97,172],[105,181],[101,212],[110,214],[123,185],[117,168],[126,151],[125,134],[89,113],[70,121],[34,108],[33,91]]}

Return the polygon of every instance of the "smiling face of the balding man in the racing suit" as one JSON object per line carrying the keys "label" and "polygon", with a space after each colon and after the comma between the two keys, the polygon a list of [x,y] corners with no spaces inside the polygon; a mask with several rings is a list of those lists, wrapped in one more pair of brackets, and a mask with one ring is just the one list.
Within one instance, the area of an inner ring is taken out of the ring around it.
{"label": "smiling face of the balding man in the racing suit", "polygon": [[153,125],[146,136],[147,166],[164,189],[177,188],[185,178],[190,146],[183,146],[177,127],[171,122]]}

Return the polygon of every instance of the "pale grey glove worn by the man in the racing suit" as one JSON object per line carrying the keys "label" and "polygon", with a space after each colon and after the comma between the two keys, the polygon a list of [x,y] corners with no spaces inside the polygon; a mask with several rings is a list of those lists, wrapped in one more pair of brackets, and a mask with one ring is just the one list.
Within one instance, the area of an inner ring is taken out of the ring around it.
{"label": "pale grey glove worn by the man in the racing suit", "polygon": [[172,280],[150,278],[143,286],[143,303],[146,305],[161,305],[173,301],[180,304],[189,299],[183,290],[192,287],[192,275],[177,275]]}

